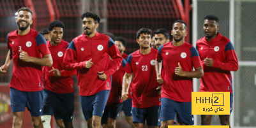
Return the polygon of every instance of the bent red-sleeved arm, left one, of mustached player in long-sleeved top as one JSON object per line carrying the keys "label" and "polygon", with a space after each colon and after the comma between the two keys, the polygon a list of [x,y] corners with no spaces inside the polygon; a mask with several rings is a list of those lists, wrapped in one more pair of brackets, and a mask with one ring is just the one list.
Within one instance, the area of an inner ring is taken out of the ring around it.
{"label": "bent red-sleeved arm, left one, of mustached player in long-sleeved top", "polygon": [[66,52],[64,54],[63,59],[63,69],[64,70],[75,70],[75,69],[84,69],[84,68],[91,68],[93,65],[92,59],[86,60],[83,62],[77,62],[77,52],[75,48],[75,43],[72,41],[70,45],[68,45],[68,48],[66,49]]}

